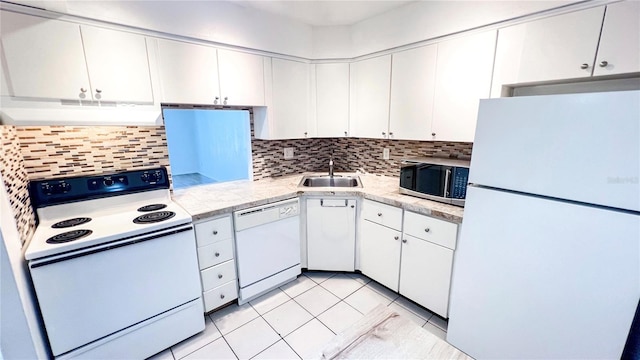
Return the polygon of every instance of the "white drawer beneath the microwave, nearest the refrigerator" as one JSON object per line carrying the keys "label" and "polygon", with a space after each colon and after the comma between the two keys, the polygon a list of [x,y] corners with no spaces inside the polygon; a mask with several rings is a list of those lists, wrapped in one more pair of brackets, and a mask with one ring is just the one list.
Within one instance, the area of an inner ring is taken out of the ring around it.
{"label": "white drawer beneath the microwave, nearest the refrigerator", "polygon": [[458,225],[407,211],[404,233],[455,250]]}

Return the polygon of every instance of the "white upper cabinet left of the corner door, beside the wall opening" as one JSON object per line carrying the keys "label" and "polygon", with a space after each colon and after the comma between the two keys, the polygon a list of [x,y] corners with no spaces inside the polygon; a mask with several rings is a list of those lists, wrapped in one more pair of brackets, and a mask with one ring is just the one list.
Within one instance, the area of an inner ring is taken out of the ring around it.
{"label": "white upper cabinet left of the corner door, beside the wall opening", "polygon": [[254,108],[257,139],[301,139],[315,135],[311,69],[307,63],[270,59],[265,66],[267,106]]}

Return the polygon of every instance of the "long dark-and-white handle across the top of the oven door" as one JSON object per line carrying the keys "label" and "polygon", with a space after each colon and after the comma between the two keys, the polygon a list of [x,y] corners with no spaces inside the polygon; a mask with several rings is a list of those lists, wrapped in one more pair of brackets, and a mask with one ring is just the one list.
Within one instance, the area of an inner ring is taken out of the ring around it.
{"label": "long dark-and-white handle across the top of the oven door", "polygon": [[[187,226],[183,225],[179,225],[175,228],[169,228],[170,231],[162,231],[162,232],[153,232],[153,233],[147,233],[147,234],[142,234],[142,235],[136,235],[136,236],[131,236],[128,238],[123,238],[123,239],[117,239],[115,241],[109,242],[109,243],[103,243],[103,244],[99,244],[96,246],[92,246],[92,247],[88,247],[88,248],[84,248],[84,249],[79,249],[79,250],[72,250],[68,253],[63,253],[63,254],[58,254],[58,255],[54,255],[52,257],[46,257],[43,259],[36,259],[36,260],[31,260],[29,262],[29,267],[32,269],[41,267],[41,266],[46,266],[46,265],[51,265],[51,264],[55,264],[61,261],[66,261],[66,260],[71,260],[71,259],[75,259],[81,256],[87,256],[87,255],[91,255],[91,254],[96,254],[99,252],[103,252],[103,251],[108,251],[108,250],[112,250],[112,249],[117,249],[117,248],[121,248],[123,246],[129,246],[129,245],[133,245],[133,244],[137,244],[137,243],[141,243],[144,241],[149,241],[149,240],[155,240],[161,237],[165,237],[165,236],[171,236],[171,235],[175,235],[175,234],[179,234],[185,231],[193,231],[193,225],[189,224]],[[169,229],[165,229],[165,230],[169,230]],[[145,236],[147,235],[147,236]]]}

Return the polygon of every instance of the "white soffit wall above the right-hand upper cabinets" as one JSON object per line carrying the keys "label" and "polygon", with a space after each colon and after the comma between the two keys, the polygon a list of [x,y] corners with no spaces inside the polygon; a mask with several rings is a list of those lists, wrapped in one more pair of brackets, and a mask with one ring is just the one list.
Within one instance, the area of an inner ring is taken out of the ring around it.
{"label": "white soffit wall above the right-hand upper cabinets", "polygon": [[351,28],[354,56],[472,29],[577,1],[418,1]]}

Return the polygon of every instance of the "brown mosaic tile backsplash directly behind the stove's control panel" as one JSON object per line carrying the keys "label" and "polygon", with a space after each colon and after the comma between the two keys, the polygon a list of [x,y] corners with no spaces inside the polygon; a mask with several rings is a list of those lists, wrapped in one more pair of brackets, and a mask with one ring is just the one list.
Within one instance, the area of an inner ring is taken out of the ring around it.
{"label": "brown mosaic tile backsplash directly behind the stove's control panel", "polygon": [[164,126],[19,126],[29,180],[100,174],[163,165]]}

